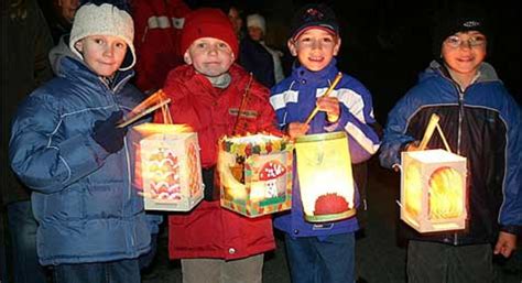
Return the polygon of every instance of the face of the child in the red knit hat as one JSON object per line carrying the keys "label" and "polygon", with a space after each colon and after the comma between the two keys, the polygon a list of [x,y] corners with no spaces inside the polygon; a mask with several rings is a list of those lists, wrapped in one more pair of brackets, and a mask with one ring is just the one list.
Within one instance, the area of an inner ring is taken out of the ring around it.
{"label": "face of the child in the red knit hat", "polygon": [[207,76],[217,77],[228,72],[233,64],[230,46],[218,39],[203,37],[193,42],[184,55],[185,63]]}

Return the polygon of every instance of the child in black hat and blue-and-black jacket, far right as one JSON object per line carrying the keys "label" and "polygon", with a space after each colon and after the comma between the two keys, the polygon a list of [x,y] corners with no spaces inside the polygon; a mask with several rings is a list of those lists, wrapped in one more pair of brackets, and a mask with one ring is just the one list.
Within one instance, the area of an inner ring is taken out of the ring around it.
{"label": "child in black hat and blue-and-black jacket, far right", "polygon": [[[432,113],[441,117],[450,150],[467,159],[468,219],[465,230],[406,230],[409,282],[493,282],[492,255],[508,258],[522,231],[522,113],[483,62],[490,33],[480,11],[457,7],[442,14],[437,59],[391,110],[380,160],[385,167],[399,164],[401,151],[417,146]],[[427,148],[444,143],[434,135]]]}

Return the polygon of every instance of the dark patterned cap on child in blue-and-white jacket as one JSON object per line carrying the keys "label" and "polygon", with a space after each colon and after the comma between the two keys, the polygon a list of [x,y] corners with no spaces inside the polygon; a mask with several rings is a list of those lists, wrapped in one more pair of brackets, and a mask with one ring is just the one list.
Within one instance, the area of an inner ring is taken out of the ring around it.
{"label": "dark patterned cap on child in blue-and-white jacket", "polygon": [[307,4],[295,12],[290,26],[290,37],[295,40],[312,28],[324,29],[336,35],[339,34],[339,24],[335,13],[325,4]]}

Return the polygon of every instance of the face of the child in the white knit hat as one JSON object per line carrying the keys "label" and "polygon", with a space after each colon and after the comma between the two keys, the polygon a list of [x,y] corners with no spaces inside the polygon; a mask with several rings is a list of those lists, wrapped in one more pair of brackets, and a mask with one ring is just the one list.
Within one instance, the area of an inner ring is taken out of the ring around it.
{"label": "face of the child in the white knit hat", "polygon": [[90,35],[76,42],[75,47],[84,55],[84,62],[104,77],[120,68],[127,53],[127,43],[112,35]]}

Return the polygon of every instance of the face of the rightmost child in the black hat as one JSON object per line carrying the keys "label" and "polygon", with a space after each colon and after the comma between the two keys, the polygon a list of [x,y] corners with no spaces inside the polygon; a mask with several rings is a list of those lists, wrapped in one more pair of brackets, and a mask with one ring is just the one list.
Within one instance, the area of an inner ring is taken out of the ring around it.
{"label": "face of the rightmost child in the black hat", "polygon": [[486,36],[480,32],[458,32],[443,42],[442,55],[454,72],[475,76],[486,57]]}

